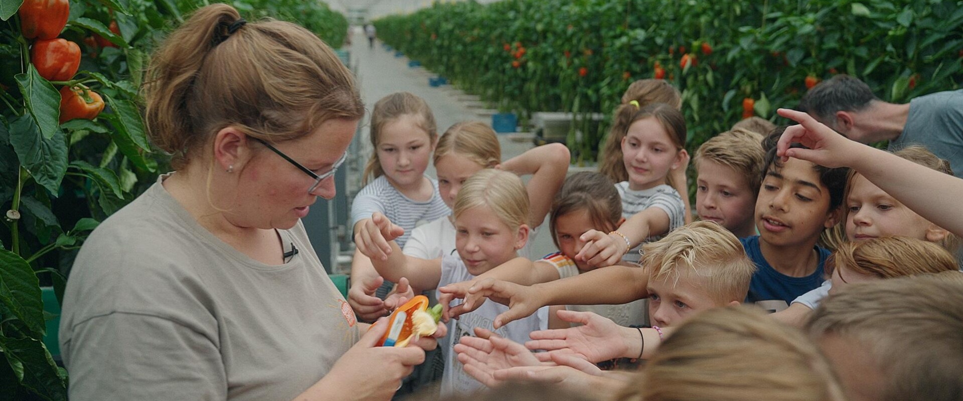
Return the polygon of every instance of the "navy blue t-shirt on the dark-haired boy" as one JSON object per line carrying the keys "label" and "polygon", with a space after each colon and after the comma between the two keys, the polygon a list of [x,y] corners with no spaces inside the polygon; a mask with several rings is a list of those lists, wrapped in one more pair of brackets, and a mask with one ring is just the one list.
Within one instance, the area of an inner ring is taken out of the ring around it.
{"label": "navy blue t-shirt on the dark-haired boy", "polygon": [[786,301],[788,306],[793,300],[814,288],[819,288],[823,281],[823,268],[829,251],[816,246],[816,251],[820,255],[820,263],[816,266],[816,271],[806,277],[792,277],[782,274],[772,268],[766,258],[763,257],[762,250],[759,249],[759,236],[740,239],[745,254],[753,263],[756,263],[756,273],[752,275],[749,282],[749,294],[745,297],[745,302],[759,301]]}

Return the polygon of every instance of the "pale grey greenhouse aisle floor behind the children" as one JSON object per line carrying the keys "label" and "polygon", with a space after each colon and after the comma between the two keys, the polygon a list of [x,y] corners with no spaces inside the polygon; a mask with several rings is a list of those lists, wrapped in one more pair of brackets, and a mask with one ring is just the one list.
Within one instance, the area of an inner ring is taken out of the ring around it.
{"label": "pale grey greenhouse aisle floor behind the children", "polygon": [[[368,46],[367,38],[364,38],[363,35],[355,35],[352,43],[349,46],[351,68],[357,74],[357,80],[361,86],[361,97],[369,112],[381,97],[397,91],[408,91],[428,102],[431,111],[434,113],[439,135],[459,121],[478,120],[488,124],[491,123],[491,111],[485,111],[481,108],[482,105],[476,99],[466,96],[465,93],[451,86],[430,87],[429,78],[434,77],[434,74],[421,67],[409,67],[407,58],[396,57],[393,51],[386,51],[380,42],[376,41],[375,48],[371,49]],[[371,155],[372,147],[368,129],[369,116],[366,115],[365,120],[362,121],[352,144],[353,152],[351,152],[351,159],[348,162],[347,188],[344,188],[347,189],[349,201],[351,196],[361,188],[361,172]],[[524,137],[524,135],[499,135],[503,160],[518,156],[533,147],[531,140],[520,140],[519,137]],[[434,177],[434,166],[429,165],[426,174]],[[342,190],[342,188],[338,189]],[[555,245],[552,243],[552,238],[547,230],[548,223],[546,220],[539,229],[538,236],[534,239],[533,255],[545,255],[555,251]],[[350,263],[350,260],[342,258],[339,267],[343,269],[345,263]]]}

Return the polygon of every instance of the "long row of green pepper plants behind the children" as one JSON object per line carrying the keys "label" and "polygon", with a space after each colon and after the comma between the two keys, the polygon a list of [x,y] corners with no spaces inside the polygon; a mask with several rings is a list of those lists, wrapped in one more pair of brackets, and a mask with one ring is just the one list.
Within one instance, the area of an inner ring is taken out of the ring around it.
{"label": "long row of green pepper plants behind the children", "polygon": [[[808,75],[847,73],[893,102],[963,80],[963,2],[952,0],[470,1],[375,24],[409,58],[522,119],[611,113],[660,63],[683,93],[690,151],[737,122],[743,98],[770,119],[796,106]],[[683,54],[697,62],[682,68]],[[607,131],[570,136],[573,157],[594,160]]]}

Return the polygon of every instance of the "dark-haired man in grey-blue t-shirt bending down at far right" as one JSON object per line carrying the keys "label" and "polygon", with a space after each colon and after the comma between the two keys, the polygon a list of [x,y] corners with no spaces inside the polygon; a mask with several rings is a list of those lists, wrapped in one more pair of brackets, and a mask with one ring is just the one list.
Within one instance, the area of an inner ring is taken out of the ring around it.
{"label": "dark-haired man in grey-blue t-shirt bending down at far right", "polygon": [[861,143],[890,141],[890,150],[925,146],[963,173],[963,89],[927,94],[907,104],[884,102],[866,83],[840,74],[809,90],[799,109]]}

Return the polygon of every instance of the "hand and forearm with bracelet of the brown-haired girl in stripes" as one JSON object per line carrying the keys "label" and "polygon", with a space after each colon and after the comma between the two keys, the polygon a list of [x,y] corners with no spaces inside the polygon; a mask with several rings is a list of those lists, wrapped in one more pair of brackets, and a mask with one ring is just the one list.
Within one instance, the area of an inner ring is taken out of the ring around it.
{"label": "hand and forearm with bracelet of the brown-haired girl in stripes", "polygon": [[618,263],[626,252],[645,238],[667,233],[670,224],[668,213],[665,213],[662,208],[650,207],[625,220],[617,230],[621,236],[615,232],[605,234],[596,230],[587,231],[582,235],[586,245],[582,247],[575,259],[581,258],[589,265],[595,266]]}

